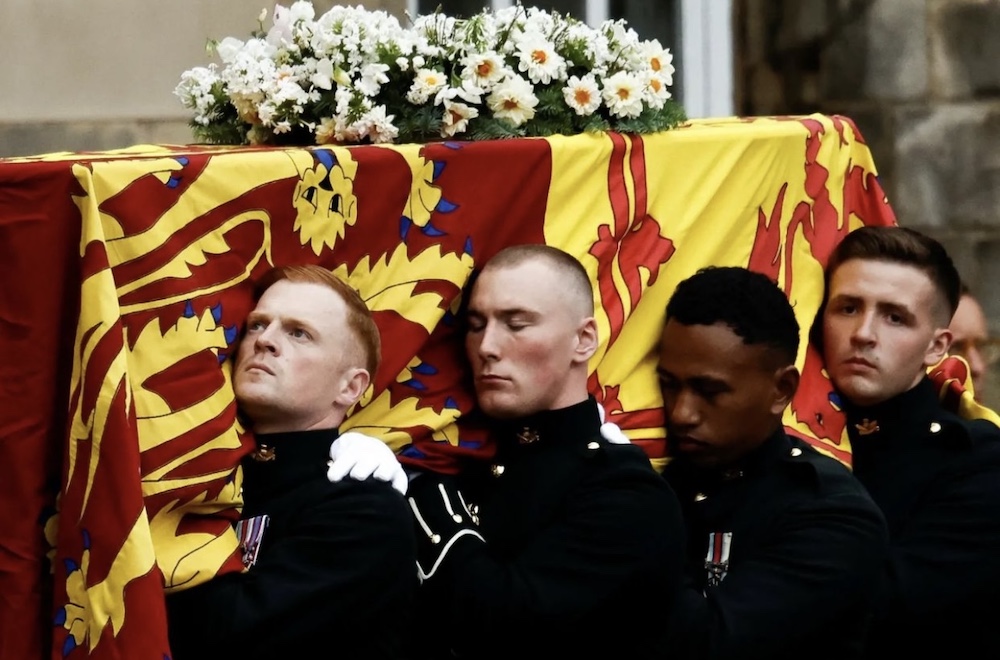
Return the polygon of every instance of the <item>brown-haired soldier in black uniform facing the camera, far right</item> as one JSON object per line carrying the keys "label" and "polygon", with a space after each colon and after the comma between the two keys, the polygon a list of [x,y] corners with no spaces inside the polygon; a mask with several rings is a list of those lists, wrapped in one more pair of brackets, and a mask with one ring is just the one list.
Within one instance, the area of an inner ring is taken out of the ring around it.
{"label": "brown-haired soldier in black uniform facing the camera, far right", "polygon": [[944,410],[927,377],[951,342],[955,266],[916,231],[863,227],[826,277],[816,339],[890,533],[867,656],[1000,657],[1000,430]]}

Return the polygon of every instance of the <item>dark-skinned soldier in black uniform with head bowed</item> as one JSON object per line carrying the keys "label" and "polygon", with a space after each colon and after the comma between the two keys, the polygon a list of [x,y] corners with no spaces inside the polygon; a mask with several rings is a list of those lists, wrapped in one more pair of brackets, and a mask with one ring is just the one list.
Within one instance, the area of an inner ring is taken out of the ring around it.
{"label": "dark-skinned soldier in black uniform with head bowed", "polygon": [[664,477],[688,547],[664,658],[860,657],[885,522],[847,467],[783,429],[798,346],[760,273],[703,269],[667,305]]}

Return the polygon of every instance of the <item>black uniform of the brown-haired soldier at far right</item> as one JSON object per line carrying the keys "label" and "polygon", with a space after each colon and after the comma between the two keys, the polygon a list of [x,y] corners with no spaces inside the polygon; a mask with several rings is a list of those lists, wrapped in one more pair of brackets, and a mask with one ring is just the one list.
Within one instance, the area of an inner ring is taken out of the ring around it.
{"label": "black uniform of the brown-haired soldier at far right", "polygon": [[1000,429],[944,410],[929,379],[846,410],[890,535],[868,657],[1000,657]]}

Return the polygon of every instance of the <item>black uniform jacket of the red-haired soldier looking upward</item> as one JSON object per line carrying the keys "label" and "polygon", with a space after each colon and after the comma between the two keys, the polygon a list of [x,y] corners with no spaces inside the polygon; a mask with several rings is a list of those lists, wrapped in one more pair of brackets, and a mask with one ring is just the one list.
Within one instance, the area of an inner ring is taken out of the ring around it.
{"label": "black uniform jacket of the red-haired soldier looking upward", "polygon": [[[175,660],[402,658],[417,587],[413,523],[388,483],[330,483],[336,430],[258,436],[243,518],[267,514],[257,562],[167,596]],[[270,459],[268,460],[268,457]]]}

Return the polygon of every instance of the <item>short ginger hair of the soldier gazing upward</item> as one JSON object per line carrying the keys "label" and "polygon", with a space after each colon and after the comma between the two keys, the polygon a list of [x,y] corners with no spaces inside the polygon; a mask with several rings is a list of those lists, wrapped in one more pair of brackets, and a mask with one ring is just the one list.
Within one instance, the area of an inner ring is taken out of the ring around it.
{"label": "short ginger hair of the soldier gazing upward", "polygon": [[372,318],[371,310],[362,300],[361,294],[350,284],[332,272],[313,264],[300,266],[278,266],[272,268],[254,288],[254,300],[260,300],[272,285],[282,280],[304,284],[320,284],[329,287],[347,306],[347,327],[350,328],[362,352],[362,362],[372,380],[382,359],[382,341],[378,326]]}

